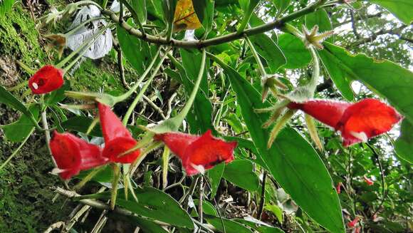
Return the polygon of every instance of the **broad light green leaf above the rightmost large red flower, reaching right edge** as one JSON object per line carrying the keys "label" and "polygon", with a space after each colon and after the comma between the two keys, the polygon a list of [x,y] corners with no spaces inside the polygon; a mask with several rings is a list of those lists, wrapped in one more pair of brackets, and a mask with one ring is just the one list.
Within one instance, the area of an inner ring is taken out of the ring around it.
{"label": "broad light green leaf above the rightmost large red flower, reaching right edge", "polygon": [[383,60],[376,61],[365,54],[355,56],[347,53],[344,48],[324,43],[323,56],[330,63],[341,69],[347,78],[361,81],[393,105],[410,123],[413,123],[413,73],[396,63]]}

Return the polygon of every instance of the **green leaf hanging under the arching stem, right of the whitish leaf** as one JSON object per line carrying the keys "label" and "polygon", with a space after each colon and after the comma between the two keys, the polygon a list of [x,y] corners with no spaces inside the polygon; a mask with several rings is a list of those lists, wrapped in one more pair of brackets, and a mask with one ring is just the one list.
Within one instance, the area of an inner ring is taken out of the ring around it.
{"label": "green leaf hanging under the arching stem, right of the whitish leaf", "polygon": [[151,49],[147,42],[130,35],[121,26],[117,26],[117,39],[125,58],[137,71],[142,74],[145,67],[152,61]]}

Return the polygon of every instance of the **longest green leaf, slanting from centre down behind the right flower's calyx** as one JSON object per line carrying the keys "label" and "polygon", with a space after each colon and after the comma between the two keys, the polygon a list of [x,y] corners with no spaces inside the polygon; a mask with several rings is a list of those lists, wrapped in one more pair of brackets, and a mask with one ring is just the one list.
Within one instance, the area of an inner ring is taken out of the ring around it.
{"label": "longest green leaf, slanting from centre down behind the right flower's calyx", "polygon": [[268,130],[261,128],[267,114],[258,114],[254,108],[265,108],[260,94],[233,68],[219,59],[214,61],[229,76],[245,123],[268,169],[293,200],[316,222],[331,232],[345,232],[338,195],[323,161],[300,134],[286,127],[267,149]]}

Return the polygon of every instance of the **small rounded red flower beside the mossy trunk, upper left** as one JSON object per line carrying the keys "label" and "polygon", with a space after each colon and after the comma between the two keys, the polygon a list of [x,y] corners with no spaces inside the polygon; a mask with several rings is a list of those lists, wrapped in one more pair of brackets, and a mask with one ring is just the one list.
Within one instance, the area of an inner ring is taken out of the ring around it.
{"label": "small rounded red flower beside the mossy trunk, upper left", "polygon": [[28,87],[33,94],[44,94],[60,88],[63,83],[63,70],[47,65],[31,76]]}

